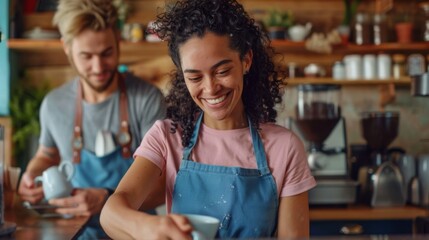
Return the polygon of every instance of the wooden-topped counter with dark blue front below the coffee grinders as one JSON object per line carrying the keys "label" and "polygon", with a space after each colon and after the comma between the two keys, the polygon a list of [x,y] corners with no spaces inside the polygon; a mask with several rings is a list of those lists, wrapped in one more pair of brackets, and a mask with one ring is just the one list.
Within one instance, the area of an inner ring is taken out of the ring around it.
{"label": "wooden-topped counter with dark blue front below the coffee grinders", "polygon": [[427,209],[415,206],[371,208],[310,208],[311,236],[341,235],[416,235],[421,233],[418,217],[427,217]]}

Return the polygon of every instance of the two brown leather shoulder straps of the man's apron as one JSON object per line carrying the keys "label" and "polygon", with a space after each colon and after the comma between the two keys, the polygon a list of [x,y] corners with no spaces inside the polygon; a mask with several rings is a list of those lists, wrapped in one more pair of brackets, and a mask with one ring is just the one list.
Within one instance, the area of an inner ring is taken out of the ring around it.
{"label": "two brown leather shoulder straps of the man's apron", "polygon": [[[83,137],[82,137],[82,83],[79,79],[77,82],[77,92],[76,92],[76,110],[74,116],[74,128],[73,128],[73,140],[72,140],[72,149],[73,149],[73,163],[80,163],[80,152],[83,148]],[[128,98],[127,90],[125,87],[125,78],[119,74],[118,78],[119,85],[119,135],[118,142],[122,147],[122,156],[126,158],[131,157],[131,134],[129,130],[128,122]]]}

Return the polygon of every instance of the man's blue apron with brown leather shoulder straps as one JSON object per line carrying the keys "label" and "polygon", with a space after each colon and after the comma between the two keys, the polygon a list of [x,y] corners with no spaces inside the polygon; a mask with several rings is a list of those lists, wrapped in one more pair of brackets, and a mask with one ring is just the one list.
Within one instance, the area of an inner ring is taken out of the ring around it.
{"label": "man's blue apron with brown leather shoulder straps", "polygon": [[[119,147],[115,151],[99,157],[83,148],[82,139],[82,86],[78,82],[76,97],[75,126],[73,131],[73,163],[75,166],[72,184],[75,188],[116,189],[119,181],[133,162],[131,154],[131,134],[128,125],[128,99],[124,78],[118,79],[120,96]],[[78,234],[78,239],[108,238],[100,225],[100,214],[91,216]]]}

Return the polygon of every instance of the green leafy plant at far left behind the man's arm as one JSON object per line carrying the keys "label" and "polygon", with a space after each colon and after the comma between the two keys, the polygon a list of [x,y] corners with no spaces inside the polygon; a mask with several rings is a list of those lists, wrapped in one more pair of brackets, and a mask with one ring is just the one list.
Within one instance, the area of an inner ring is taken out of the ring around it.
{"label": "green leafy plant at far left behind the man's arm", "polygon": [[49,87],[17,84],[11,91],[10,116],[12,119],[12,156],[25,169],[38,147],[40,134],[39,109]]}

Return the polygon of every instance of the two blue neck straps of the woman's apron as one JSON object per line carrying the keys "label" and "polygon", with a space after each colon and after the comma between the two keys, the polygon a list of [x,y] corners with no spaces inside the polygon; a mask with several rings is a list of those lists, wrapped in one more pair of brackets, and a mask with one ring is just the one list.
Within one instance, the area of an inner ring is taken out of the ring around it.
{"label": "two blue neck straps of the woman's apron", "polygon": [[[195,123],[194,132],[192,133],[192,136],[191,136],[191,141],[189,143],[189,146],[183,149],[182,159],[190,159],[192,149],[194,148],[198,140],[198,133],[200,132],[203,115],[204,113],[201,112],[201,114],[198,116],[198,119]],[[267,164],[267,157],[265,155],[264,144],[261,141],[258,131],[252,125],[250,118],[248,118],[248,122],[249,122],[249,128],[250,128],[250,135],[252,137],[253,152],[255,154],[258,170],[261,172],[261,175],[269,174],[270,170]]]}

